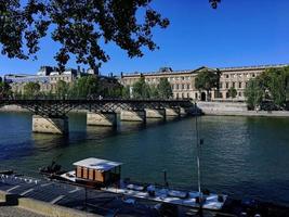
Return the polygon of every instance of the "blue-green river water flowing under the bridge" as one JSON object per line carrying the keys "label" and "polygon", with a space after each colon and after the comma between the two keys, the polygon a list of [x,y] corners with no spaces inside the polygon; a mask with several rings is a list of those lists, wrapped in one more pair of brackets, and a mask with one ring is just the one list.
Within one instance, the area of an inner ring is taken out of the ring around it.
{"label": "blue-green river water flowing under the bridge", "polygon": [[[122,177],[197,190],[195,118],[117,130],[87,127],[69,116],[68,138],[31,133],[31,116],[0,113],[1,166],[36,176],[56,159],[66,168],[86,157],[122,162]],[[202,188],[234,197],[289,204],[289,118],[203,116],[199,128]]]}

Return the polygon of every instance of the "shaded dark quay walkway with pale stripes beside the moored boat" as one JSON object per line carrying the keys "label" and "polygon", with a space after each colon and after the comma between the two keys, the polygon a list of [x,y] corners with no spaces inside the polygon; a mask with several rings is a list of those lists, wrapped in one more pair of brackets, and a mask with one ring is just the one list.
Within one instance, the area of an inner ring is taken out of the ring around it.
{"label": "shaded dark quay walkway with pale stripes beside the moored boat", "polygon": [[137,203],[120,195],[50,180],[0,175],[0,191],[96,216],[159,216],[155,203]]}

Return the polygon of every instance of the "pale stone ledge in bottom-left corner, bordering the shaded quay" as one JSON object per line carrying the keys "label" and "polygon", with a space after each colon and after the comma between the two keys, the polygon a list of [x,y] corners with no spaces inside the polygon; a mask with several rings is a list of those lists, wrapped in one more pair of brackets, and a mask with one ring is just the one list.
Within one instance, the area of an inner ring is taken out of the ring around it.
{"label": "pale stone ledge in bottom-left corner, bordering the shaded quay", "polygon": [[[51,217],[100,217],[100,215],[90,214],[73,208],[45,203],[28,197],[21,197],[16,194],[9,194],[4,191],[0,191],[0,200],[6,202],[10,205],[17,205],[21,208],[31,210],[34,213],[42,214]],[[15,203],[16,202],[16,203]]]}

